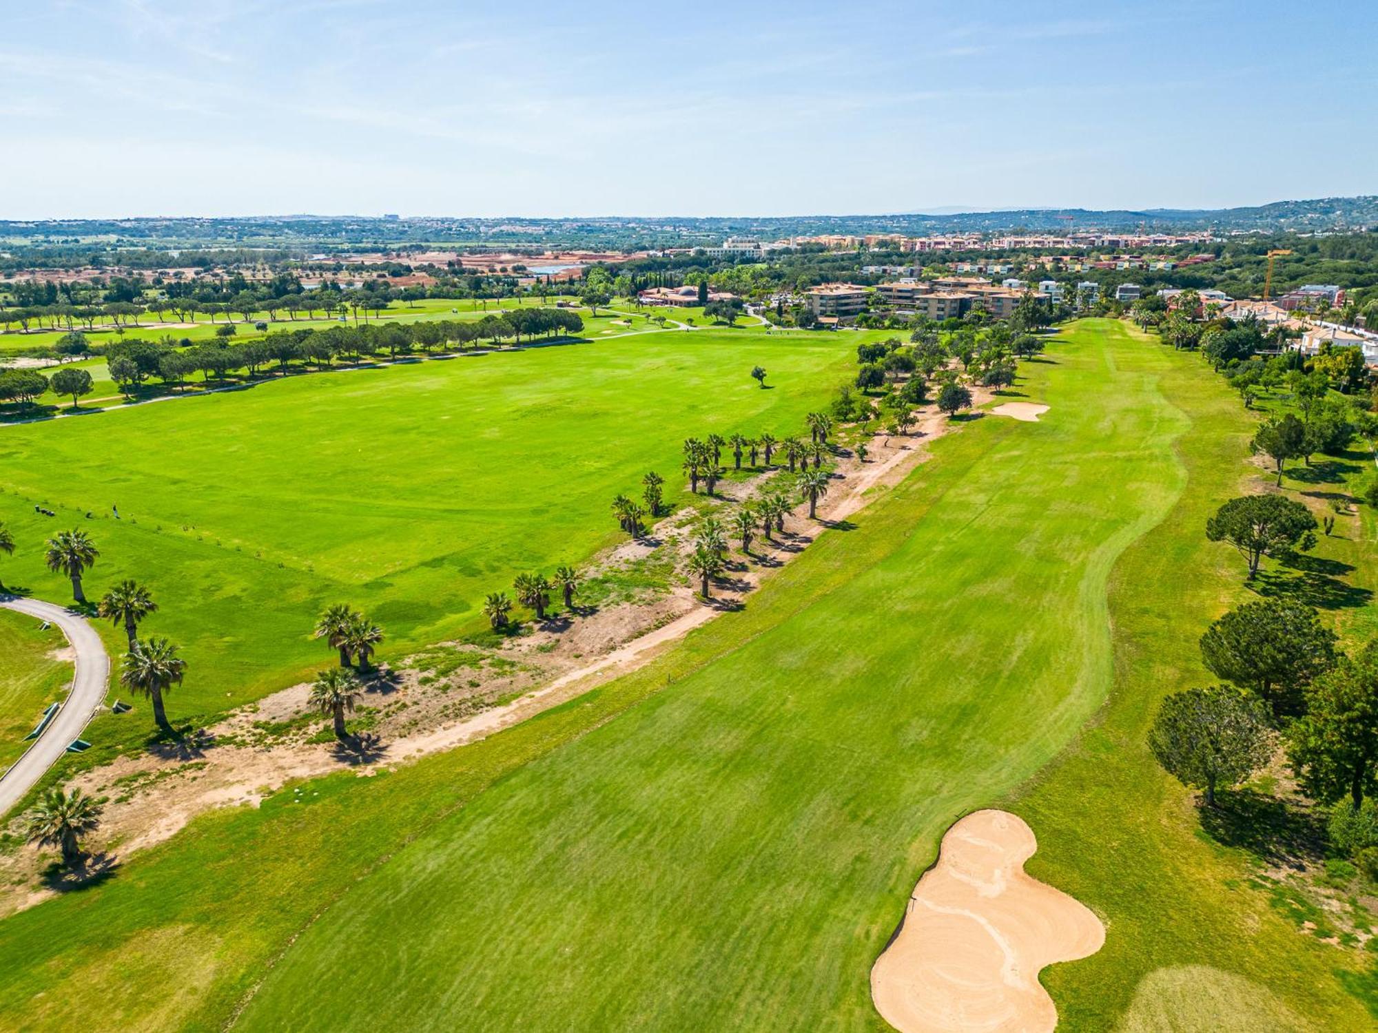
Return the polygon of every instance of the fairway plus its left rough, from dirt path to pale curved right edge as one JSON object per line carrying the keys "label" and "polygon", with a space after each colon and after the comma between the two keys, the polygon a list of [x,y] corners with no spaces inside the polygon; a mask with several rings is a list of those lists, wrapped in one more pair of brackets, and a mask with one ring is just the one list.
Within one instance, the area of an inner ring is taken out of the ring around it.
{"label": "fairway plus its left rough, from dirt path to pale curved right edge", "polygon": [[1029,365],[1045,423],[937,442],[856,529],[641,672],[384,780],[211,815],[7,920],[43,948],[22,971],[0,953],[0,1007],[41,989],[40,1026],[81,1022],[81,985],[147,1021],[169,1005],[130,971],[154,963],[120,945],[167,938],[196,983],[175,1016],[218,1025],[344,894],[241,1026],[878,1029],[870,963],[941,829],[1101,702],[1105,578],[1181,486],[1185,420],[1105,348],[1080,335]]}

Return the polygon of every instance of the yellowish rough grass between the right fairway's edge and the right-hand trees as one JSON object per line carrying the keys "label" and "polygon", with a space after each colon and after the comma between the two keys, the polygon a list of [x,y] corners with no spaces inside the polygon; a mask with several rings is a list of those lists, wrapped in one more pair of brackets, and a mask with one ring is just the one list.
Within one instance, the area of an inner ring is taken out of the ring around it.
{"label": "yellowish rough grass between the right fairway's edge and the right-hand trees", "polygon": [[[1305,1027],[1277,1022],[1287,1010],[1317,1029],[1371,1029],[1378,978],[1366,972],[1368,963],[1305,935],[1247,884],[1254,865],[1265,862],[1268,831],[1232,813],[1226,797],[1221,828],[1231,835],[1207,835],[1193,795],[1146,749],[1164,694],[1217,680],[1202,664],[1200,634],[1225,610],[1258,598],[1239,555],[1206,540],[1206,518],[1231,496],[1271,486],[1272,477],[1246,461],[1258,415],[1243,409],[1224,379],[1196,355],[1171,355],[1156,337],[1130,333],[1144,342],[1134,366],[1153,369],[1159,390],[1192,420],[1178,442],[1186,488],[1169,518],[1116,567],[1109,702],[1065,758],[1009,802],[1039,836],[1028,869],[1109,920],[1098,954],[1051,970],[1045,982],[1075,1029],[1111,1029],[1126,1014],[1133,1029],[1155,1027],[1144,1025],[1155,1015],[1173,1016],[1173,1029]],[[1129,361],[1118,365],[1129,368]],[[1297,464],[1305,479],[1286,483],[1316,492],[1327,479],[1359,475],[1363,461],[1317,457],[1309,471]],[[1371,523],[1367,508],[1361,518]],[[1374,532],[1345,516],[1338,533],[1322,537],[1313,555],[1327,570],[1353,569],[1355,584],[1269,565],[1257,588],[1320,605],[1346,645],[1361,645],[1374,631],[1367,605],[1378,573]],[[1255,850],[1236,848],[1246,843]]]}

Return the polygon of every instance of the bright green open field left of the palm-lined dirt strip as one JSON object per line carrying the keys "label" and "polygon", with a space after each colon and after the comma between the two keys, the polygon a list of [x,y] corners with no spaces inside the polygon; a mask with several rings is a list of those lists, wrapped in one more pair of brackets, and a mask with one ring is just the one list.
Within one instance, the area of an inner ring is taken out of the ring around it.
{"label": "bright green open field left of the palm-lined dirt strip", "polygon": [[[773,390],[748,376],[757,362]],[[219,711],[324,664],[309,635],[332,602],[382,623],[384,651],[453,634],[484,592],[609,541],[612,497],[639,494],[646,470],[678,490],[685,437],[795,432],[850,365],[834,337],[649,333],[10,427],[8,580],[68,598],[41,543],[88,530],[88,595],[146,581],[161,606],[147,631],[186,647],[174,713]]]}

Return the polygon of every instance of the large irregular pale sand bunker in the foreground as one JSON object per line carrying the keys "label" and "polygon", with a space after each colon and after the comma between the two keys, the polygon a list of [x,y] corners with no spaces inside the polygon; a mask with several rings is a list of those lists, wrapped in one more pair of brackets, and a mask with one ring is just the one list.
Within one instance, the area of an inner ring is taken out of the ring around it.
{"label": "large irregular pale sand bunker in the foreground", "polygon": [[1034,831],[1007,811],[976,811],[948,829],[898,935],[871,970],[871,997],[886,1022],[903,1033],[1057,1026],[1038,974],[1094,954],[1105,927],[1024,872],[1035,850]]}

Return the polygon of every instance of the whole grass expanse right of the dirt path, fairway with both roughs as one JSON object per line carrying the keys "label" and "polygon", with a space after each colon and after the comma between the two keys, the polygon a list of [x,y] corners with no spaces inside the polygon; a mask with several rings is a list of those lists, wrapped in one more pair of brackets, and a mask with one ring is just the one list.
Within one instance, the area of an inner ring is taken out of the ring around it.
{"label": "whole grass expanse right of the dirt path, fairway with both roughs", "polygon": [[1239,591],[1202,525],[1251,417],[1115,321],[1065,328],[1014,391],[1049,412],[965,420],[641,669],[205,814],[0,920],[0,1027],[883,1030],[871,964],[944,829],[995,804],[1107,926],[1045,972],[1061,1029],[1371,1027],[1371,977],[1246,884],[1144,745]]}

